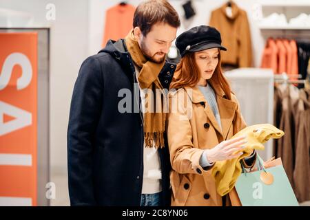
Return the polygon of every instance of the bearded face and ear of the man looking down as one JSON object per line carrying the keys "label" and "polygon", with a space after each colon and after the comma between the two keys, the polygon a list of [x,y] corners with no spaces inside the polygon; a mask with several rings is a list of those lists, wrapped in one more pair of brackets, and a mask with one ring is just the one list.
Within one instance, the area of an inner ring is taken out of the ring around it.
{"label": "bearded face and ear of the man looking down", "polygon": [[165,60],[169,48],[176,39],[177,28],[167,23],[156,23],[146,36],[143,36],[140,28],[134,28],[134,36],[147,60],[161,63]]}

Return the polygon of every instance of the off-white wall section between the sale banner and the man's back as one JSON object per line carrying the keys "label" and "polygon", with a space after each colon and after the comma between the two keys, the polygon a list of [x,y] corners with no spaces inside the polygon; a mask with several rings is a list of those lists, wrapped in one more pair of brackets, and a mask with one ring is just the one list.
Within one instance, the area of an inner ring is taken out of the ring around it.
{"label": "off-white wall section between the sale banner and the man's back", "polygon": [[[48,3],[56,7],[55,21],[47,21]],[[0,8],[28,12],[33,25],[50,25],[50,166],[67,174],[67,128],[74,81],[88,50],[88,1],[1,0]]]}

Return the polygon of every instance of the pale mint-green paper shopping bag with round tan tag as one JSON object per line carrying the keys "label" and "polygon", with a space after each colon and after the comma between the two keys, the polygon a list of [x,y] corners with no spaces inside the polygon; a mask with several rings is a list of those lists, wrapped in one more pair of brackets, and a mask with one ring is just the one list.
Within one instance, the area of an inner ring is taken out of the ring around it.
{"label": "pale mint-green paper shopping bag with round tan tag", "polygon": [[258,170],[243,172],[236,182],[242,206],[298,206],[289,179],[282,165],[265,168],[257,155]]}

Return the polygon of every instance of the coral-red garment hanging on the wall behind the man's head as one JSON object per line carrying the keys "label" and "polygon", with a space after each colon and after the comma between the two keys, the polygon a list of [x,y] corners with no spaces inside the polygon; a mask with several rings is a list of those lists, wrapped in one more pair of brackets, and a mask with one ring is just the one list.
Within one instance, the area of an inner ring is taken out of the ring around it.
{"label": "coral-red garment hanging on the wall behind the man's head", "polygon": [[130,30],[132,30],[135,10],[136,8],[133,5],[118,4],[106,11],[102,42],[103,47],[105,47],[109,39],[117,41],[118,39],[125,38]]}

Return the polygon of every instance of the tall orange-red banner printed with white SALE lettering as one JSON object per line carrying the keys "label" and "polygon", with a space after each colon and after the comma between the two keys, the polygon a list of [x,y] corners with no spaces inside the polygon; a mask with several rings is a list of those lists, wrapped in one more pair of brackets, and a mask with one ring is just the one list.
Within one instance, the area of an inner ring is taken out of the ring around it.
{"label": "tall orange-red banner printed with white SALE lettering", "polygon": [[37,33],[0,33],[0,206],[37,206]]}

